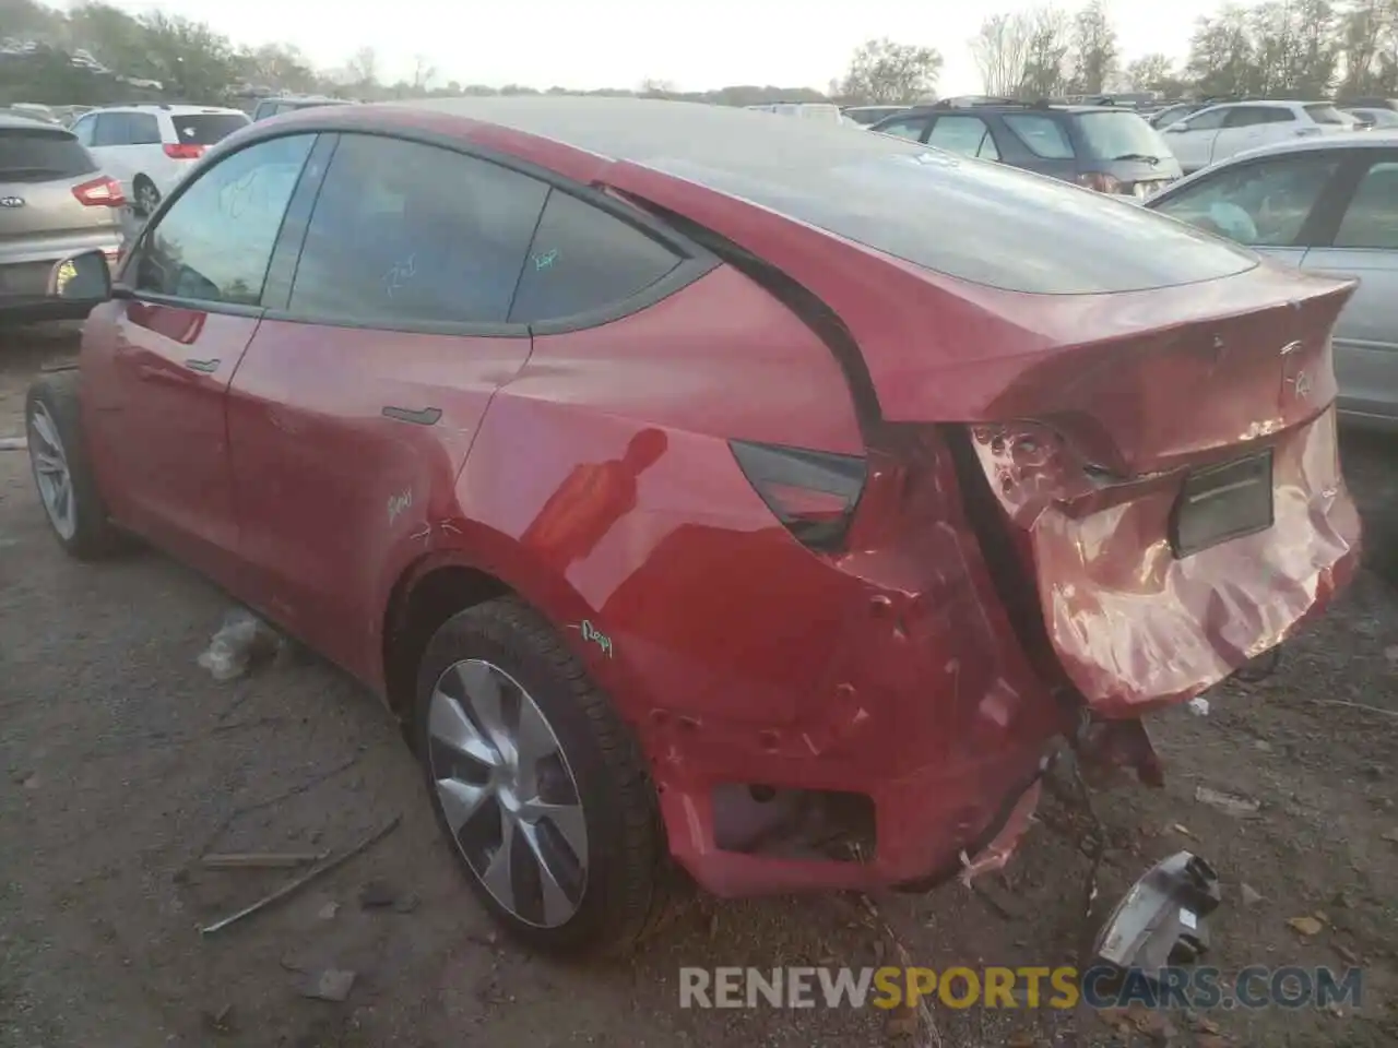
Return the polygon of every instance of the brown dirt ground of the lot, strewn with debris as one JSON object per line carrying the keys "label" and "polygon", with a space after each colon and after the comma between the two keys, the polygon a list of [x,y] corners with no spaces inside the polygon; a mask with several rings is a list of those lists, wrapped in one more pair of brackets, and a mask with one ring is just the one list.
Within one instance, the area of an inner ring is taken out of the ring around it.
{"label": "brown dirt ground of the lot, strewn with debris", "polygon": [[[29,376],[73,349],[64,331],[0,341],[0,436],[22,430]],[[875,1009],[682,1010],[677,973],[896,963],[888,929],[937,968],[1071,961],[1088,862],[1068,812],[1047,803],[984,896],[953,885],[872,903],[698,900],[632,963],[544,963],[491,932],[372,696],[306,655],[215,683],[196,658],[226,598],[155,553],[64,559],[27,456],[0,451],[0,1045],[1392,1045],[1398,590],[1380,558],[1398,530],[1395,447],[1346,446],[1378,570],[1278,676],[1219,689],[1206,718],[1181,710],[1152,725],[1163,791],[1096,802],[1104,896],[1198,850],[1225,883],[1211,956],[1225,974],[1362,964],[1362,1006],[1165,1021],[938,1005],[935,1027],[916,1030]],[[1197,787],[1260,808],[1227,815],[1195,801]],[[200,939],[199,924],[287,878],[203,869],[208,850],[340,851],[400,813],[393,836],[302,894]],[[398,905],[362,908],[370,879]],[[1317,918],[1313,935],[1288,924],[1299,917]],[[347,1000],[301,996],[322,968],[356,973]]]}

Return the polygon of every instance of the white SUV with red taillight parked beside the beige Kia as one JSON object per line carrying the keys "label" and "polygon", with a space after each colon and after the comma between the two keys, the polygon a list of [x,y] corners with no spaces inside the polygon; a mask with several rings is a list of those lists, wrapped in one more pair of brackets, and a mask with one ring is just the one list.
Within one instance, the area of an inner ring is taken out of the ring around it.
{"label": "white SUV with red taillight parked beside the beige Kia", "polygon": [[73,133],[129,187],[131,208],[150,214],[210,145],[247,123],[240,109],[113,106],[84,113]]}

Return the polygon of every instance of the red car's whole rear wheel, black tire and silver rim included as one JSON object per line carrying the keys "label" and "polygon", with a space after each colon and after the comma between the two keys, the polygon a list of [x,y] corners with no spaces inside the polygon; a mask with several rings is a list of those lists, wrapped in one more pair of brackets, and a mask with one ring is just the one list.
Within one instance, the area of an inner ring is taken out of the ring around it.
{"label": "red car's whole rear wheel, black tire and silver rim included", "polygon": [[495,919],[547,953],[632,947],[664,910],[654,788],[548,623],[514,598],[454,615],[417,697],[432,808]]}

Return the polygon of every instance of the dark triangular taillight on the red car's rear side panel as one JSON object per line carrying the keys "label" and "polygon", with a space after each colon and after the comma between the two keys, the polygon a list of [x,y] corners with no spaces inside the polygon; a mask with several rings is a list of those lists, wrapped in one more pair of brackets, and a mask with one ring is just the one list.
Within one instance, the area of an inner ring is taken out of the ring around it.
{"label": "dark triangular taillight on the red car's rear side panel", "polygon": [[747,440],[728,444],[749,483],[787,531],[811,549],[840,545],[868,475],[863,457]]}

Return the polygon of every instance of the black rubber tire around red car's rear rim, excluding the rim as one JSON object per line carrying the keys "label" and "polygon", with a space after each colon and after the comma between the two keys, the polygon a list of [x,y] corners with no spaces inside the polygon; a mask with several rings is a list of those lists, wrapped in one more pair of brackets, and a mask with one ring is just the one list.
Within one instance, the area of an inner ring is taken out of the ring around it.
{"label": "black rubber tire around red car's rear rim, excluding the rim", "polygon": [[[554,729],[577,784],[587,827],[587,882],[577,911],[544,928],[502,907],[466,861],[432,781],[428,708],[440,676],[463,660],[503,669]],[[412,738],[438,826],[482,905],[513,938],[555,956],[629,952],[670,910],[668,850],[640,749],[611,701],[549,625],[506,597],[459,612],[432,636],[418,672]]]}

